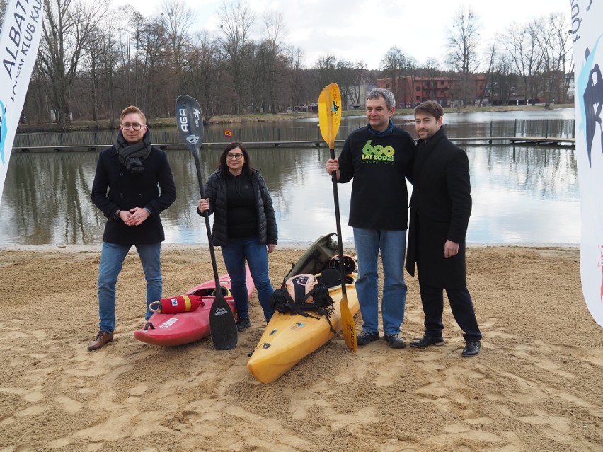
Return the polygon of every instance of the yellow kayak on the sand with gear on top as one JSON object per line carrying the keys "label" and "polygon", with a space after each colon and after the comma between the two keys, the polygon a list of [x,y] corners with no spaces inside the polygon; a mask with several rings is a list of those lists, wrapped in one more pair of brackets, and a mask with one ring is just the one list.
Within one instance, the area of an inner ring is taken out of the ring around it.
{"label": "yellow kayak on the sand with gear on top", "polygon": [[[345,286],[352,315],[360,309],[355,286],[357,277],[355,272],[348,274]],[[334,308],[329,320],[335,331],[340,332],[341,286],[329,287],[329,295],[333,299]],[[262,383],[272,383],[335,336],[324,315],[316,315],[312,311],[308,313],[318,319],[299,314],[282,314],[278,311],[272,315],[258,346],[247,362],[247,368],[253,378]]]}

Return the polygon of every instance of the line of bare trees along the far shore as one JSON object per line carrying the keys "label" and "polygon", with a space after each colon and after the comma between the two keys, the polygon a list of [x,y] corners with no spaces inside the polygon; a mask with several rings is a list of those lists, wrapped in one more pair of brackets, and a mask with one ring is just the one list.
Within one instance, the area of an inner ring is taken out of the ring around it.
{"label": "line of bare trees along the far shore", "polygon": [[[0,0],[3,15],[5,8]],[[509,25],[484,53],[479,17],[461,6],[442,47],[444,66],[435,57],[420,65],[394,46],[379,69],[368,69],[334,54],[306,68],[304,51],[285,42],[280,13],[258,15],[246,0],[224,0],[217,33],[194,30],[183,0],[163,0],[160,13],[148,18],[127,4],[109,9],[108,0],[46,0],[44,9],[21,119],[62,129],[74,120],[100,127],[108,119],[113,127],[125,105],[138,105],[149,118],[173,117],[180,93],[197,98],[209,120],[316,103],[332,82],[348,105],[362,105],[365,88],[379,78],[391,79],[396,92],[402,76],[452,77],[467,103],[475,97],[475,74],[486,75],[487,97],[503,103],[517,93],[562,102],[569,83],[571,33],[561,12]]]}

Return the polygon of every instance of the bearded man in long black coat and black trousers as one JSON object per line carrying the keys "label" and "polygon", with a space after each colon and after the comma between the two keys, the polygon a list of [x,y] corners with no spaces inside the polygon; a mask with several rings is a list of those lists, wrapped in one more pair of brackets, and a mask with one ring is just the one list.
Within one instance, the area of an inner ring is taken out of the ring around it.
{"label": "bearded man in long black coat and black trousers", "polygon": [[472,357],[481,348],[471,294],[467,289],[465,236],[471,216],[471,182],[466,153],[444,134],[444,110],[433,101],[415,108],[419,135],[410,197],[410,228],[406,270],[415,274],[417,264],[425,335],[410,342],[424,349],[443,345],[444,289],[452,315],[464,332],[462,355]]}

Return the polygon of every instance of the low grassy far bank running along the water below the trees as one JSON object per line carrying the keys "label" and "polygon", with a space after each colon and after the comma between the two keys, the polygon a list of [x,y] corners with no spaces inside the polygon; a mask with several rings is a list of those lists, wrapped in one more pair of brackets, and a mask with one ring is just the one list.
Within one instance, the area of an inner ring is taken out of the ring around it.
{"label": "low grassy far bank running along the water below the trees", "polygon": [[[573,104],[553,105],[551,109],[573,108]],[[444,108],[446,113],[469,113],[469,112],[505,112],[505,111],[544,111],[544,105],[498,105],[493,107],[466,107],[466,108]],[[412,108],[401,108],[396,110],[396,115],[412,115]],[[364,115],[363,110],[346,110],[343,116]],[[277,113],[276,115],[222,115],[211,117],[207,124],[238,124],[243,122],[271,122],[299,120],[307,117],[318,117],[316,112],[308,113]],[[149,120],[150,127],[176,127],[173,117],[154,118]],[[98,125],[94,121],[74,121],[68,127],[70,131],[77,130],[103,130],[110,129],[109,120],[100,120]],[[57,124],[19,124],[17,133],[25,132],[60,132]]]}

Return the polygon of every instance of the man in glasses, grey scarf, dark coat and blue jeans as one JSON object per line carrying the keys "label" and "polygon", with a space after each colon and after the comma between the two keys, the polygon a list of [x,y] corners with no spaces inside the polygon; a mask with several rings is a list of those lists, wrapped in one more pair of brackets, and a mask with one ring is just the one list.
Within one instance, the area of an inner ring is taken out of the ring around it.
{"label": "man in glasses, grey scarf, dark coat and blue jeans", "polygon": [[147,280],[147,320],[149,304],[161,299],[160,253],[165,235],[159,214],[176,199],[166,153],[151,145],[147,118],[133,105],[122,111],[115,144],[98,156],[91,198],[107,217],[98,269],[100,330],[88,344],[88,350],[98,350],[113,340],[115,284],[132,245]]}

